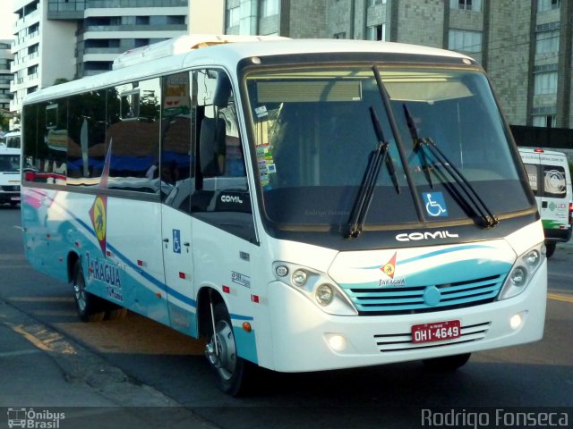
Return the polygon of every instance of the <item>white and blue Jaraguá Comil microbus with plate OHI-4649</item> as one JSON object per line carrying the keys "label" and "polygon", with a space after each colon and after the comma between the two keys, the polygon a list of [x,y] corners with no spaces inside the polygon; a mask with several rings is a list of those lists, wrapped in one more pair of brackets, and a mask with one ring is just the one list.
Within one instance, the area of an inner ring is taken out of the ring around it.
{"label": "white and blue Jaragu\u00e1 Comil microbus with plate OHI-4649", "polygon": [[84,321],[128,309],[205,338],[230,394],[256,366],[453,369],[543,336],[542,223],[465,55],[184,37],[22,117],[31,264]]}

